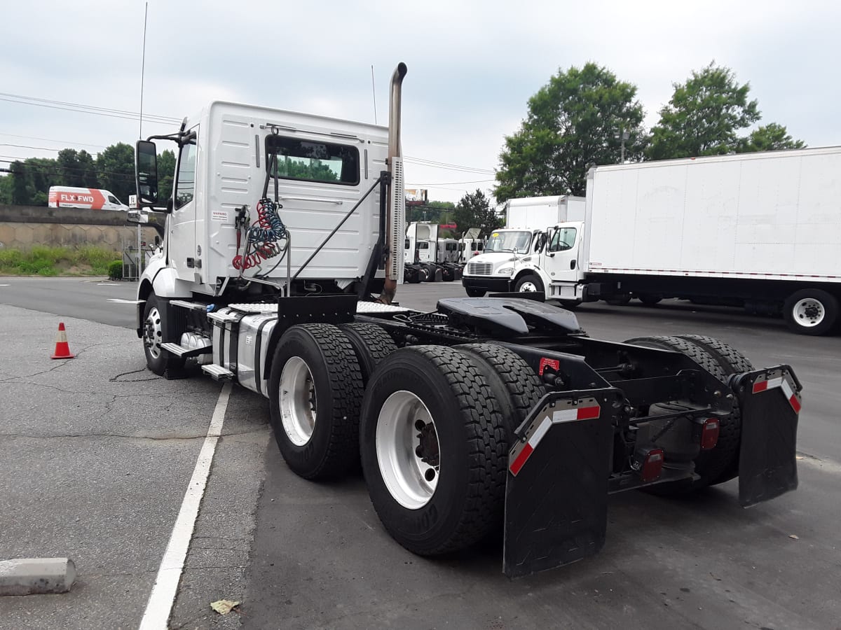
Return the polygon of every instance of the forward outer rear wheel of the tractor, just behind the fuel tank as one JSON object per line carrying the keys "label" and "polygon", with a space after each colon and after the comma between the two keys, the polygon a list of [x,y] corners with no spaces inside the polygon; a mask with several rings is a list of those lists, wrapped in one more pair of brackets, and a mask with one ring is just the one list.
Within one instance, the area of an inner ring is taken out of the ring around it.
{"label": "forward outer rear wheel of the tractor, just behind the fuel tank", "polygon": [[269,410],[283,459],[305,479],[341,475],[359,459],[362,372],[336,326],[308,323],[280,338],[269,379]]}

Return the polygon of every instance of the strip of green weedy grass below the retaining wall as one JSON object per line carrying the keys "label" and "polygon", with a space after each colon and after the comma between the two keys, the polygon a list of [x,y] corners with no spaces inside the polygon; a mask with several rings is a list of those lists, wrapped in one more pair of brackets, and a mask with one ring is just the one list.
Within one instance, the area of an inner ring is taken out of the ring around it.
{"label": "strip of green weedy grass below the retaining wall", "polygon": [[0,249],[0,276],[108,276],[108,265],[119,258],[95,245]]}

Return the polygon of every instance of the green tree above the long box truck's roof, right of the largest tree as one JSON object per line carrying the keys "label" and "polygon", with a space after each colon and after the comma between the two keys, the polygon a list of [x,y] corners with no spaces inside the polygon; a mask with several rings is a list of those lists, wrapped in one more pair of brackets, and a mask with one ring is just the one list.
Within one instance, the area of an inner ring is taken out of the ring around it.
{"label": "green tree above the long box truck's roof, right of the largest tree", "polygon": [[649,159],[733,153],[740,143],[738,131],[759,120],[757,102],[748,101],[749,84],[739,85],[733,71],[713,64],[674,84],[652,129]]}

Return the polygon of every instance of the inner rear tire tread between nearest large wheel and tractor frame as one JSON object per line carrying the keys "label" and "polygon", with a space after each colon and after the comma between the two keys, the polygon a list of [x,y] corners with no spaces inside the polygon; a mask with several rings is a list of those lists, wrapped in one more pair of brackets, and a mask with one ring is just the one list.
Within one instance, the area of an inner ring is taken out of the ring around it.
{"label": "inner rear tire tread between nearest large wheel and tractor frame", "polygon": [[505,437],[510,441],[528,412],[546,395],[546,386],[519,354],[496,344],[464,344],[456,349],[473,354],[500,403]]}

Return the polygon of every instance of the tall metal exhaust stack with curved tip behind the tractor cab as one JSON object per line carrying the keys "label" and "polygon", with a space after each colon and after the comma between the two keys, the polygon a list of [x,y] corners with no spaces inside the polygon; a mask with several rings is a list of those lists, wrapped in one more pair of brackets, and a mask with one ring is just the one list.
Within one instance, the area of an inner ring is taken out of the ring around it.
{"label": "tall metal exhaust stack with curved tip behind the tractor cab", "polygon": [[400,62],[391,76],[389,94],[389,165],[391,186],[385,215],[385,243],[388,255],[385,260],[385,283],[379,301],[390,304],[394,301],[397,284],[403,278],[403,246],[405,224],[405,187],[403,178],[403,150],[400,146],[400,108],[403,91],[403,77],[406,65]]}

